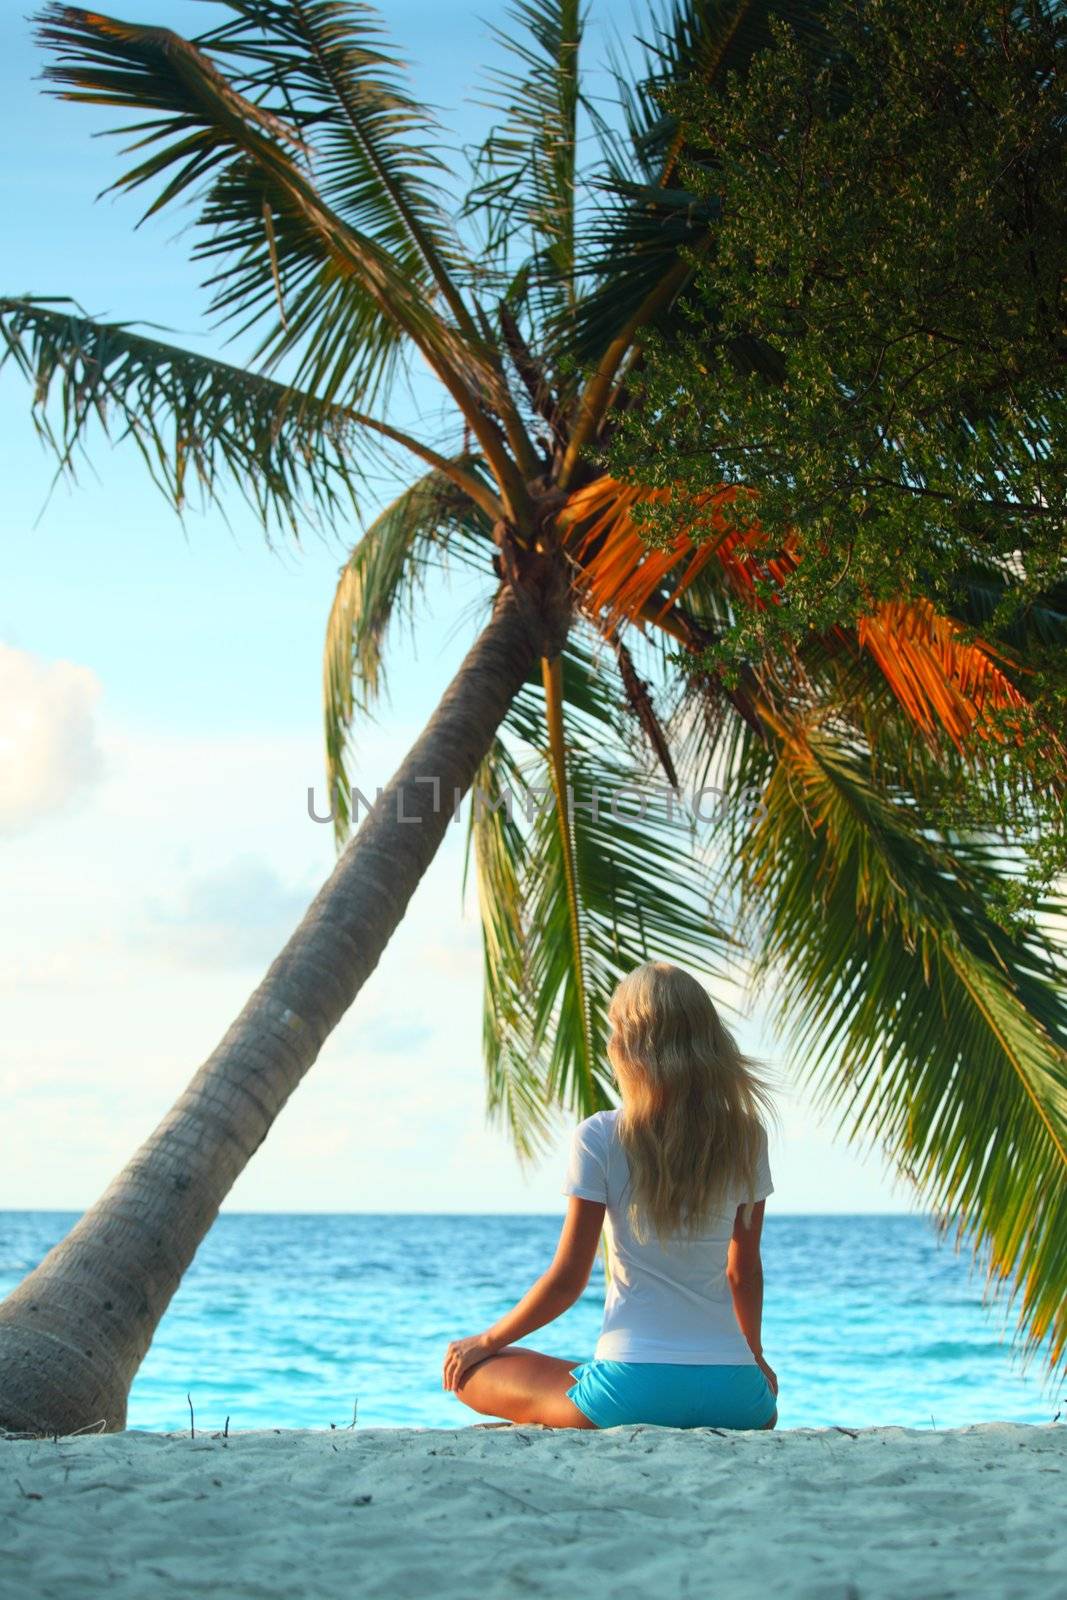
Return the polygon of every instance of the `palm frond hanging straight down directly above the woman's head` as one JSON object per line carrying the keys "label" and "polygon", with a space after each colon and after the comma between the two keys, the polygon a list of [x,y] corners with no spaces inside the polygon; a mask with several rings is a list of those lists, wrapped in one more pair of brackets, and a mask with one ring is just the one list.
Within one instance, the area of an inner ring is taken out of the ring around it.
{"label": "palm frond hanging straight down directly above the woman's head", "polygon": [[[561,677],[577,923],[553,798],[544,685],[526,683],[504,723],[504,733],[533,752],[515,757],[522,787],[514,790],[514,826],[501,827],[493,846],[506,850],[496,878],[518,885],[512,893],[522,906],[507,960],[486,963],[486,1014],[501,1024],[494,1050],[506,1053],[512,1075],[523,1074],[523,1094],[512,1090],[512,1118],[525,1104],[549,1102],[574,1117],[613,1104],[605,1045],[617,981],[661,957],[721,974],[731,944],[709,904],[707,870],[685,813],[670,814],[662,778],[638,776],[629,758],[614,664],[571,637]],[[510,766],[506,776],[514,781],[514,773]],[[643,818],[635,814],[637,784],[645,789]],[[501,944],[498,934],[494,941]]]}

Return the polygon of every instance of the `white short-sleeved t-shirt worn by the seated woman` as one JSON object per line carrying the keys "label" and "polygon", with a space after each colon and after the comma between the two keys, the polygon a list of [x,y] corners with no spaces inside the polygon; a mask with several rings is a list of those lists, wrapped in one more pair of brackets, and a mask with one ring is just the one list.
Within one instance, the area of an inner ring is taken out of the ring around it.
{"label": "white short-sleeved t-shirt worn by the seated woman", "polygon": [[616,1131],[617,1118],[617,1110],[598,1110],[579,1122],[563,1184],[565,1195],[608,1206],[611,1277],[593,1357],[601,1362],[755,1365],[737,1326],[726,1282],[726,1253],[737,1206],[774,1192],[766,1128],[753,1194],[737,1194],[720,1216],[707,1219],[705,1234],[693,1242],[681,1234],[664,1250],[651,1224],[649,1238],[641,1245],[627,1222],[630,1168]]}

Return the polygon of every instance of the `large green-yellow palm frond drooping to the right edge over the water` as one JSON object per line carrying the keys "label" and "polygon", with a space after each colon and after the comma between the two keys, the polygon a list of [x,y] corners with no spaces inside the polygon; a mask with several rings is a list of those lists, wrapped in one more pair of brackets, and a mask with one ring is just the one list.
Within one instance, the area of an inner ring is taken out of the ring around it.
{"label": "large green-yellow palm frond drooping to the right edge over the water", "polygon": [[[766,811],[736,856],[757,981],[849,1139],[880,1139],[945,1226],[1022,1288],[1027,1350],[1067,1346],[1062,952],[989,914],[1006,867],[949,845],[827,725],[781,728]],[[1062,907],[1048,907],[1061,910]],[[840,1131],[840,1130],[838,1130]]]}

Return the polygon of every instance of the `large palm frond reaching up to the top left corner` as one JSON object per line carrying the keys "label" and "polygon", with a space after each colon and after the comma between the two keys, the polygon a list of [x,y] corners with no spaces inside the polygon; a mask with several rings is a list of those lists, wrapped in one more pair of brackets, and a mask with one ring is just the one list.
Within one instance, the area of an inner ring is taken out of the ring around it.
{"label": "large palm frond reaching up to the top left corner", "polygon": [[[306,6],[302,14],[318,10]],[[352,136],[341,171],[344,112],[323,110],[328,64],[314,70],[298,53],[290,59],[299,56],[304,70],[291,85],[278,82],[296,11],[250,0],[242,21],[224,27],[216,42],[213,34],[186,40],[168,29],[50,5],[38,26],[40,42],[54,56],[45,77],[62,85],[58,93],[70,99],[149,112],[146,120],[115,130],[136,136],[128,149],[150,147],[152,154],[112,187],[160,181],[146,214],[179,198],[200,202],[197,222],[206,238],[194,254],[214,262],[208,280],[213,309],[222,318],[243,318],[238,331],[270,318],[254,358],[277,360],[301,346],[294,382],[326,400],[358,403],[382,384],[410,339],[456,386],[477,382],[477,357],[438,315],[424,248],[398,214],[389,182],[398,163],[411,158],[419,114],[397,98],[392,77],[379,75],[394,64],[374,50],[368,13],[346,8],[336,21],[352,34],[347,86],[362,66],[362,133],[378,162],[365,152],[360,168]],[[370,30],[363,53],[360,27]],[[245,77],[237,70],[230,80],[216,67],[208,53],[216,43],[235,64],[246,62]],[[334,42],[331,59],[342,54]],[[323,118],[320,189],[318,152],[309,141]],[[411,182],[405,194],[413,214],[426,218],[426,186]]]}

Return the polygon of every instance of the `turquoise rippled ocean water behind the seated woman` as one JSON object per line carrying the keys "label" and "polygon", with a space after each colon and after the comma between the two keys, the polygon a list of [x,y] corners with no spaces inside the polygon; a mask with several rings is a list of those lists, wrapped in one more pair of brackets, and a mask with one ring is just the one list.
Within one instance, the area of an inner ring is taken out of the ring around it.
{"label": "turquoise rippled ocean water behind the seated woman", "polygon": [[[74,1224],[0,1211],[0,1296]],[[267,1216],[224,1213],[200,1246],[134,1381],[128,1426],[461,1427],[442,1389],[453,1338],[480,1333],[545,1270],[557,1216]],[[592,1355],[601,1256],[581,1301],[523,1339]],[[1041,1352],[1009,1349],[1006,1296],[982,1306],[923,1216],[774,1216],[763,1224],[763,1347],[779,1427],[963,1427],[1067,1414]]]}

